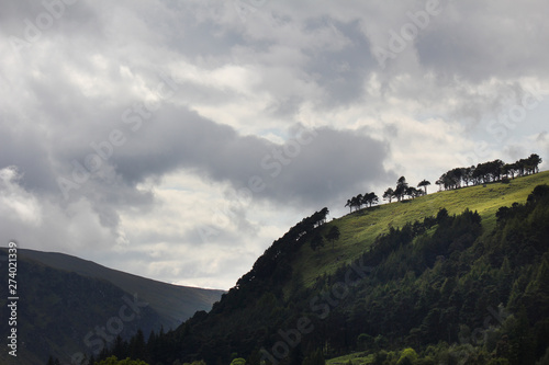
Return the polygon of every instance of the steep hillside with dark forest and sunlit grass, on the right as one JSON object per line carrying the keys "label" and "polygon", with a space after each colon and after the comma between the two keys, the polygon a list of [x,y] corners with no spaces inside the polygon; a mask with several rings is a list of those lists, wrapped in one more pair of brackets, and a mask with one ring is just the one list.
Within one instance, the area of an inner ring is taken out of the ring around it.
{"label": "steep hillside with dark forest and sunlit grass, on the right", "polygon": [[[549,347],[548,183],[541,172],[330,223],[317,212],[209,313],[111,354],[155,365],[534,364]],[[314,252],[334,225],[334,249]]]}

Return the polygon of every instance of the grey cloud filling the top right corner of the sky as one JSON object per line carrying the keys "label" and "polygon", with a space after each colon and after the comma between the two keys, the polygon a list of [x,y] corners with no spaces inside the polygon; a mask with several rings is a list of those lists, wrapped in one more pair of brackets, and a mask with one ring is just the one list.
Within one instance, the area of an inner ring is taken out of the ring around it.
{"label": "grey cloud filling the top right corner of the sky", "polygon": [[445,7],[417,39],[426,68],[450,80],[477,82],[547,75],[549,32],[541,20],[549,11],[547,2],[466,1]]}

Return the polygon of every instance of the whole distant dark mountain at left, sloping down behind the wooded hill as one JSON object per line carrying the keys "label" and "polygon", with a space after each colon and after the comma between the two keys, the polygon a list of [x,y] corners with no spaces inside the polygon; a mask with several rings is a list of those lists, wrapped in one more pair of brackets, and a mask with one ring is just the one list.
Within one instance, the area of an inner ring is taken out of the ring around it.
{"label": "whole distant dark mountain at left, sloping down behind the wooded hill", "polygon": [[[8,273],[7,250],[0,270]],[[8,277],[4,275],[5,281]],[[210,310],[223,290],[170,285],[112,270],[76,256],[18,249],[19,351],[13,364],[45,364],[48,355],[63,364],[81,354],[99,353],[143,330],[169,330],[198,310]],[[8,287],[0,286],[2,319],[9,318]],[[4,316],[5,315],[5,316]],[[8,321],[0,333],[8,333]],[[3,334],[2,334],[3,335]],[[13,361],[5,345],[0,363]]]}

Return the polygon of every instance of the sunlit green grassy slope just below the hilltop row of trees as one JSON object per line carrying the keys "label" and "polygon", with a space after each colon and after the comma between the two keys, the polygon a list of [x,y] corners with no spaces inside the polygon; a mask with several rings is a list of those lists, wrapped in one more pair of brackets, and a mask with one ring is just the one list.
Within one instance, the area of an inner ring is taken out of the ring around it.
{"label": "sunlit green grassy slope just below the hilltop row of trees", "polygon": [[[337,225],[341,232],[335,249],[332,250],[332,246],[326,242],[322,251],[315,253],[309,244],[303,246],[293,262],[294,272],[300,272],[304,285],[310,286],[317,276],[333,273],[343,263],[357,259],[365,248],[370,246],[376,237],[386,232],[389,227],[399,228],[408,221],[434,216],[442,207],[450,215],[459,214],[466,208],[477,210],[482,217],[485,231],[491,231],[495,227],[495,213],[500,207],[511,206],[514,202],[524,203],[539,184],[549,184],[549,171],[517,178],[509,184],[491,183],[486,187],[462,187],[354,212],[325,225],[324,233],[332,225]],[[436,189],[430,187],[432,191]]]}

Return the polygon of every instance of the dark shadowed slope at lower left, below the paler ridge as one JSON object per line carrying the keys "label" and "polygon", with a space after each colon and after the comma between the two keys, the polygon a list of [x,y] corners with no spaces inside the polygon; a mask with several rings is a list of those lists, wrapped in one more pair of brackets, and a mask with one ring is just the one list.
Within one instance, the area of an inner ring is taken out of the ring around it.
{"label": "dark shadowed slope at lower left, below the paler ridge", "polygon": [[[1,251],[4,254],[5,251]],[[5,269],[5,265],[2,265]],[[99,278],[46,266],[21,256],[18,260],[18,357],[3,345],[2,364],[45,364],[48,355],[65,362],[96,352],[115,337],[130,338],[137,329],[148,333],[163,322],[143,298],[134,298],[117,286]],[[2,319],[9,318],[8,290],[0,290]],[[0,322],[8,333],[8,321]]]}

